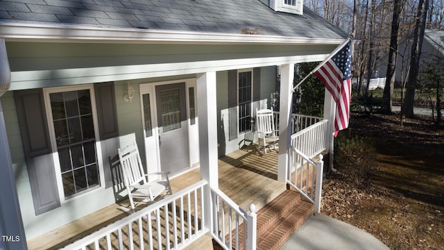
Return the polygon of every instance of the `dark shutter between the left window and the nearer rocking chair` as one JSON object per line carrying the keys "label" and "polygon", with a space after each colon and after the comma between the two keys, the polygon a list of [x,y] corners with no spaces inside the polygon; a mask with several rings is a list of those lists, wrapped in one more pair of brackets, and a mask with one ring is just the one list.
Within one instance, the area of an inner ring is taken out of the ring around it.
{"label": "dark shutter between the left window and the nearer rocking chair", "polygon": [[101,140],[103,174],[105,188],[112,187],[111,168],[113,158],[119,148],[119,128],[117,126],[117,108],[114,83],[94,84],[97,119],[99,123],[99,138]]}

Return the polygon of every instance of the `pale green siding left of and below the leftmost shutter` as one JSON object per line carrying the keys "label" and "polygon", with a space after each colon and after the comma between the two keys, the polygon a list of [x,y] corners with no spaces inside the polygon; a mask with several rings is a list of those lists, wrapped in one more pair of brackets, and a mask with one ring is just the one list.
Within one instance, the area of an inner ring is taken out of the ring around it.
{"label": "pale green siding left of and below the leftmost shutter", "polygon": [[42,215],[35,215],[14,95],[12,92],[6,92],[0,100],[4,107],[3,115],[6,121],[12,167],[15,171],[17,194],[27,240],[31,240],[42,233],[49,232],[114,203],[112,189],[105,190],[104,188],[99,188],[75,199],[69,199],[62,203],[62,206],[59,208]]}

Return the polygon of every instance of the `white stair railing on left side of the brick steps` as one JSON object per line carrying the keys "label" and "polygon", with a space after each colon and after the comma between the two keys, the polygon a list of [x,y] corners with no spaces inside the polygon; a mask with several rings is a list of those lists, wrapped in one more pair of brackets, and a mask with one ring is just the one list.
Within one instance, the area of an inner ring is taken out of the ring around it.
{"label": "white stair railing on left side of the brick steps", "polygon": [[[221,190],[211,190],[214,206],[212,236],[223,249],[256,249],[255,206],[246,213]],[[247,233],[245,233],[247,232]]]}

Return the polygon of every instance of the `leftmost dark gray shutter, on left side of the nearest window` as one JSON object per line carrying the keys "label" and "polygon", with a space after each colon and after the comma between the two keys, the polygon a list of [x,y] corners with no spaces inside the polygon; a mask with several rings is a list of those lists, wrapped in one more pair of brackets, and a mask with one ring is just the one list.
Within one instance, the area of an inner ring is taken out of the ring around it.
{"label": "leftmost dark gray shutter, on left side of the nearest window", "polygon": [[20,90],[15,103],[35,215],[60,206],[42,89]]}

